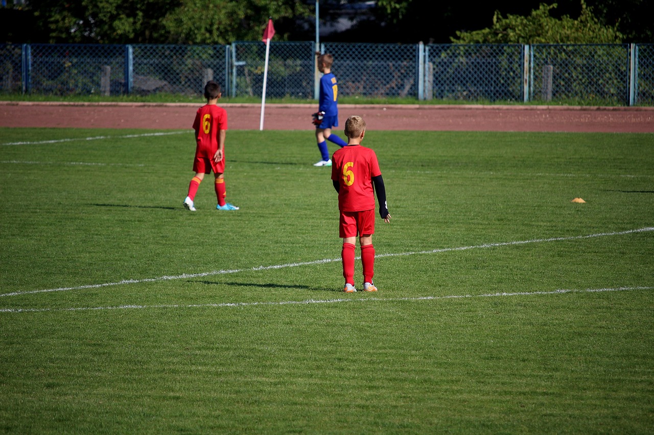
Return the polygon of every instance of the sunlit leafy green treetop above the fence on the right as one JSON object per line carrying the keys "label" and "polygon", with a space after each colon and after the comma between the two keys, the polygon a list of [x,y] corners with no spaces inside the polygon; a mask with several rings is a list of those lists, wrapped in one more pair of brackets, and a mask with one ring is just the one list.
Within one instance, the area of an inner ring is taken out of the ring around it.
{"label": "sunlit leafy green treetop above the fence on the right", "polygon": [[550,10],[557,3],[542,3],[529,16],[507,15],[495,11],[492,27],[476,31],[457,31],[452,42],[502,44],[593,44],[621,42],[623,35],[617,25],[603,25],[593,15],[593,9],[581,0],[581,14],[577,20],[568,15],[557,19]]}

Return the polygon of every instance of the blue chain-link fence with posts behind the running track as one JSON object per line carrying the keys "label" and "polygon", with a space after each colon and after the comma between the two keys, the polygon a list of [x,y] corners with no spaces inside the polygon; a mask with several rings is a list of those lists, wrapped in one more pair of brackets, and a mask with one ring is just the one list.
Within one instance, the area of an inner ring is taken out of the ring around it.
{"label": "blue chain-link fence with posts behind the running track", "polygon": [[[271,42],[268,97],[317,98],[314,42]],[[325,42],[341,96],[654,105],[654,44]],[[266,44],[0,44],[0,93],[260,97]]]}

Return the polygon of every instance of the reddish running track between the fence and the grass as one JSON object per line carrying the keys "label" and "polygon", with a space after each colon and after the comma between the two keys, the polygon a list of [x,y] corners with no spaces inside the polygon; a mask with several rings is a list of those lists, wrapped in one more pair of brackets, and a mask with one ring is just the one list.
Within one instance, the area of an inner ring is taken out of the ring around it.
{"label": "reddish running track between the fence and the grass", "polygon": [[[0,127],[190,129],[199,104],[0,101]],[[229,128],[258,130],[261,105],[225,104]],[[264,130],[313,130],[317,105],[266,105]],[[339,105],[341,127],[363,116],[370,130],[654,133],[654,107]]]}

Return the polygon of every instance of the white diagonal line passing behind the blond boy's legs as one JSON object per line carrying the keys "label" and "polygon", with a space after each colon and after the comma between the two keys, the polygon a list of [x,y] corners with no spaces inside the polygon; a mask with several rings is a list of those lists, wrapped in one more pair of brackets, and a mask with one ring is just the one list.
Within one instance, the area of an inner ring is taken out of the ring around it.
{"label": "white diagonal line passing behind the blond boy's legs", "polygon": [[[441,252],[452,252],[452,251],[465,251],[481,248],[495,248],[499,246],[514,246],[514,245],[524,245],[530,243],[540,243],[540,242],[559,242],[562,240],[577,240],[583,238],[594,238],[594,237],[605,237],[605,236],[619,236],[624,234],[633,234],[633,233],[644,233],[647,231],[654,231],[654,227],[645,227],[627,231],[616,231],[613,233],[597,233],[589,234],[585,236],[569,236],[569,237],[553,237],[553,238],[536,238],[533,240],[521,240],[515,242],[501,242],[501,243],[488,243],[483,245],[473,245],[473,246],[460,246],[458,248],[441,248],[436,250],[429,251],[412,251],[412,252],[402,252],[402,253],[387,253],[375,255],[376,258],[381,257],[402,257],[405,255],[418,255],[418,254],[430,254],[430,253],[441,253]],[[359,257],[357,257],[359,258]],[[89,285],[78,285],[76,287],[59,287],[57,289],[43,289],[43,290],[31,290],[31,291],[14,291],[12,293],[1,294],[0,297],[7,296],[18,296],[18,295],[31,295],[34,293],[48,293],[52,291],[68,291],[68,290],[84,290],[84,289],[99,289],[101,287],[109,287],[112,285],[125,285],[125,284],[137,284],[137,283],[146,283],[146,282],[160,282],[160,281],[170,281],[170,280],[184,280],[188,278],[201,278],[203,276],[214,276],[214,275],[224,275],[224,274],[235,274],[239,272],[248,272],[252,270],[273,270],[273,269],[282,269],[288,267],[297,267],[297,266],[312,266],[312,265],[321,265],[324,263],[334,263],[335,261],[341,261],[340,258],[337,259],[322,259],[315,261],[303,261],[301,263],[286,263],[284,265],[272,265],[272,266],[254,266],[251,268],[243,269],[232,269],[232,270],[213,270],[211,272],[201,272],[198,274],[181,274],[174,276],[160,276],[158,278],[144,278],[141,280],[122,280],[118,282],[110,283],[101,283],[101,284],[89,284]]]}

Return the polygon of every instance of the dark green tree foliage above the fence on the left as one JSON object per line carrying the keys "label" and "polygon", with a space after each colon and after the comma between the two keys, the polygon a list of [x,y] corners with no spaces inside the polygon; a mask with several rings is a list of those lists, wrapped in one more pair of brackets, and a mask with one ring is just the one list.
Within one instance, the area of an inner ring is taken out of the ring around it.
{"label": "dark green tree foliage above the fence on the left", "polygon": [[[268,17],[309,12],[300,0],[33,0],[48,42],[228,44],[260,39]],[[278,39],[286,35],[277,33]]]}

